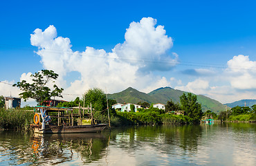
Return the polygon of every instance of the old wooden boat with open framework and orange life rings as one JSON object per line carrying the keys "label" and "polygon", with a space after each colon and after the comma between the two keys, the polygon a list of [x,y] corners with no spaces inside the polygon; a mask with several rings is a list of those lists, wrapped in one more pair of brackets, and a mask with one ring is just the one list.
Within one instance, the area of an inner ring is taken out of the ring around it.
{"label": "old wooden boat with open framework and orange life rings", "polygon": [[[89,109],[87,109],[89,110]],[[34,133],[95,133],[101,132],[107,124],[93,119],[93,113],[74,113],[73,108],[35,107],[34,123],[30,124]]]}

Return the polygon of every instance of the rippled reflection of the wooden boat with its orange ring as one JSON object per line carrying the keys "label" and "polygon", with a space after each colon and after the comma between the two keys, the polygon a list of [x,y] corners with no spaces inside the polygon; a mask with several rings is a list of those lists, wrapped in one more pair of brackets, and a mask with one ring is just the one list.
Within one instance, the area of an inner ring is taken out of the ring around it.
{"label": "rippled reflection of the wooden boat with its orange ring", "polygon": [[65,133],[65,134],[34,134],[31,137],[31,148],[35,164],[58,165],[73,160],[77,154],[84,164],[102,158],[108,140],[102,133]]}

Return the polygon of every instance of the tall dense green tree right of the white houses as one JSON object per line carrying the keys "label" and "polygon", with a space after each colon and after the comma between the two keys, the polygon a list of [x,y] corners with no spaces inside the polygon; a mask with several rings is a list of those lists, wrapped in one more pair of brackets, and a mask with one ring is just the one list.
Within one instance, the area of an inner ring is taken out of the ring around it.
{"label": "tall dense green tree right of the white houses", "polygon": [[203,112],[201,109],[201,104],[197,102],[196,95],[192,95],[192,93],[188,93],[188,96],[183,93],[180,97],[181,101],[181,109],[184,112],[185,116],[192,118],[192,121],[197,123],[200,122]]}

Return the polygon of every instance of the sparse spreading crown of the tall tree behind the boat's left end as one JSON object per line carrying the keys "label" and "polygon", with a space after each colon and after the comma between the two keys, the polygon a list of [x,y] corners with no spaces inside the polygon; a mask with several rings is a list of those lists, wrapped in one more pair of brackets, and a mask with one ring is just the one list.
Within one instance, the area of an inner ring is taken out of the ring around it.
{"label": "sparse spreading crown of the tall tree behind the boat's left end", "polygon": [[28,98],[35,99],[37,104],[42,104],[46,100],[50,100],[52,96],[57,96],[62,98],[62,91],[64,89],[60,89],[57,85],[53,85],[53,91],[46,86],[48,82],[51,80],[56,80],[59,75],[54,73],[54,71],[42,70],[34,75],[30,75],[32,77],[33,83],[30,84],[26,82],[26,80],[22,80],[21,82],[17,82],[17,84],[13,84],[13,86],[19,87],[22,93],[19,93],[19,96],[23,98],[26,102]]}

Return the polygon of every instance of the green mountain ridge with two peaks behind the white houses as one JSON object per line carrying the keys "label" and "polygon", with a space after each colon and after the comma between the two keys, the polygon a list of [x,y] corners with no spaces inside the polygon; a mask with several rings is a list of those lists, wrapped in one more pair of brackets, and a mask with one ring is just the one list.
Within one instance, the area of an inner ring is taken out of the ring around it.
{"label": "green mountain ridge with two peaks behind the white houses", "polygon": [[[176,89],[172,89],[170,87],[160,88],[156,89],[150,93],[143,93],[140,91],[137,91],[136,89],[133,89],[129,87],[128,89],[125,89],[125,91],[121,91],[119,93],[113,93],[108,95],[109,98],[115,99],[117,102],[120,103],[134,103],[137,104],[138,102],[149,102],[149,103],[163,103],[166,104],[168,100],[179,102],[179,97],[183,95],[183,93],[188,93],[185,91],[180,91]],[[211,98],[208,98],[204,95],[197,95],[197,100],[200,104],[202,104],[203,111],[211,110],[215,113],[218,113],[220,111],[225,111],[226,106],[218,102],[217,100],[213,100]]]}

